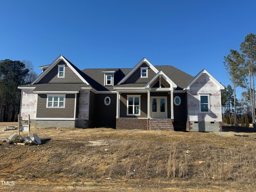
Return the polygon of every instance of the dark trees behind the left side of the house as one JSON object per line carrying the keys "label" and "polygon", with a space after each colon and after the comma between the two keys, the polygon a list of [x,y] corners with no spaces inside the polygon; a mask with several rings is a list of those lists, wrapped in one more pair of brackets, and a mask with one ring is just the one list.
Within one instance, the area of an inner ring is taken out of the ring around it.
{"label": "dark trees behind the left side of the house", "polygon": [[18,86],[30,84],[37,77],[28,60],[0,60],[0,122],[18,120],[21,90]]}

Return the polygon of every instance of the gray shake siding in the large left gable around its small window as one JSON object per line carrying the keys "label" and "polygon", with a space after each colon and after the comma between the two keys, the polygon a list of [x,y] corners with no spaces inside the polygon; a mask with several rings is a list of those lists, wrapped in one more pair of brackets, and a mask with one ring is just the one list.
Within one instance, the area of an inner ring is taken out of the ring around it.
{"label": "gray shake siding in the large left gable around its small window", "polygon": [[65,64],[65,62],[58,62],[38,83],[83,83],[67,65],[65,66],[64,78],[58,78],[59,64]]}

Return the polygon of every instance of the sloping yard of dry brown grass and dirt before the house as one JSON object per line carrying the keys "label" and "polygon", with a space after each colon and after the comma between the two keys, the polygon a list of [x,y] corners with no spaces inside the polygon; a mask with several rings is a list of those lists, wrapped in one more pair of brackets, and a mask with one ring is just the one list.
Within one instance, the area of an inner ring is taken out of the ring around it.
{"label": "sloping yard of dry brown grass and dirt before the house", "polygon": [[[256,191],[252,129],[203,133],[31,128],[31,134],[52,140],[22,146],[2,141],[18,133],[2,131],[7,126],[18,124],[0,123],[3,192]],[[89,141],[106,145],[88,146]]]}

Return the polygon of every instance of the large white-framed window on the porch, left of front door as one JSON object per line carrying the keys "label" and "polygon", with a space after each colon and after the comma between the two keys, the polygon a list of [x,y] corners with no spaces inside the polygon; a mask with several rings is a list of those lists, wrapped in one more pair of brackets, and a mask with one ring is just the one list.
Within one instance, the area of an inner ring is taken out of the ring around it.
{"label": "large white-framed window on the porch, left of front door", "polygon": [[140,115],[140,95],[127,96],[127,115]]}

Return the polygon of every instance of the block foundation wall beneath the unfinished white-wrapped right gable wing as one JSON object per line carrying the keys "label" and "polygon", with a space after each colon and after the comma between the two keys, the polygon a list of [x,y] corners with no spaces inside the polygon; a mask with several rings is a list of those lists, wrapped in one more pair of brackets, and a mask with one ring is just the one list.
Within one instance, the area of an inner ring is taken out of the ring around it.
{"label": "block foundation wall beneath the unfinished white-wrapped right gable wing", "polygon": [[189,131],[194,132],[221,132],[222,122],[188,122]]}

